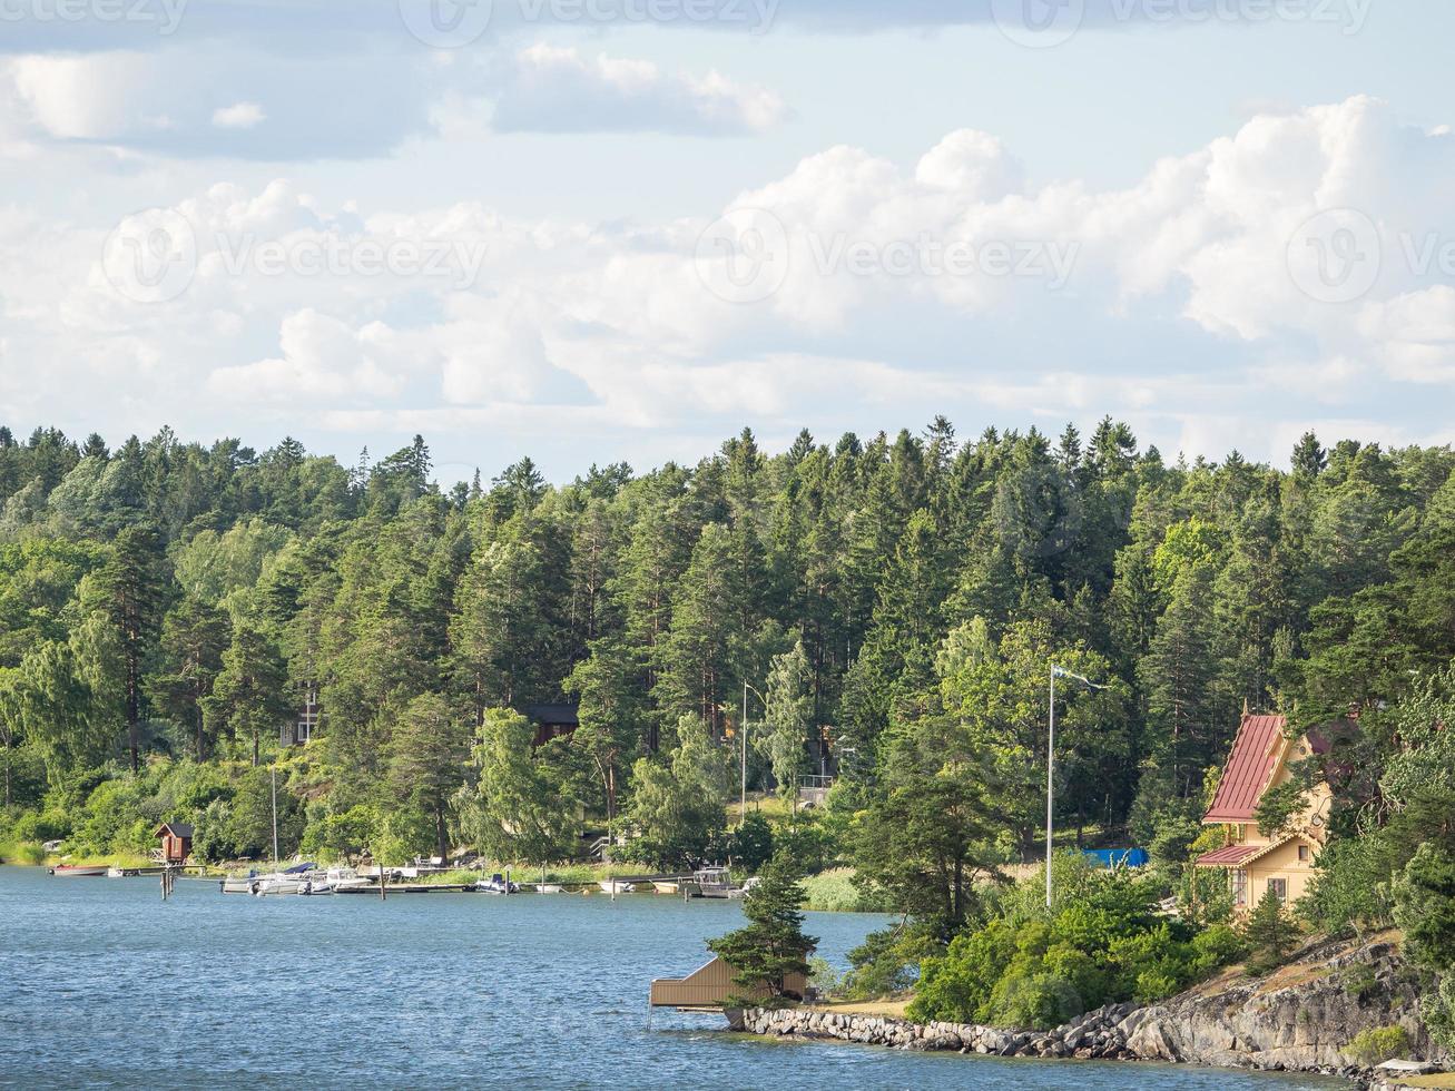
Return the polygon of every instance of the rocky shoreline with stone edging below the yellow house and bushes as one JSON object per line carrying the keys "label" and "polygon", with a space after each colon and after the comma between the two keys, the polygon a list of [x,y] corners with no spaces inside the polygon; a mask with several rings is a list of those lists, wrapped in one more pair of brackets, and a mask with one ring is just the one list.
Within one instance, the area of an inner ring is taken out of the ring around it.
{"label": "rocky shoreline with stone edging below the yellow house and bushes", "polygon": [[1449,1060],[1419,1020],[1417,986],[1391,943],[1310,948],[1269,978],[1224,975],[1163,1004],[1113,1004],[1049,1031],[917,1024],[831,1008],[757,1008],[730,1018],[738,1030],[774,1037],[1004,1058],[1163,1060],[1336,1075],[1360,1084],[1374,1084],[1375,1074],[1343,1050],[1362,1030],[1398,1024],[1411,1058]]}

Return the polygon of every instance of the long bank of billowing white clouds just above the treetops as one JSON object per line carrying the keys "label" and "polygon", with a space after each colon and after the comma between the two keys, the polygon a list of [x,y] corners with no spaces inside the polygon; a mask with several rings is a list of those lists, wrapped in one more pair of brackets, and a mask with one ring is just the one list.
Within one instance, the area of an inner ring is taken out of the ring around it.
{"label": "long bank of billowing white clouds just above the treetops", "polygon": [[[86,113],[65,116],[81,128]],[[1410,268],[1397,240],[1449,230],[1439,183],[1452,176],[1449,137],[1369,99],[1253,118],[1110,191],[1030,186],[973,131],[906,164],[834,147],[730,202],[768,209],[787,239],[787,278],[757,304],[723,301],[700,276],[698,236],[720,209],[591,224],[476,202],[355,208],[285,179],[218,185],[175,202],[198,273],[154,307],[99,273],[111,224],[12,211],[0,214],[0,368],[63,362],[0,383],[0,412],[35,416],[79,390],[105,415],[125,391],[125,412],[160,419],[253,407],[292,432],[428,425],[525,439],[553,426],[567,442],[682,436],[687,452],[745,420],[792,433],[936,412],[966,428],[1113,413],[1168,451],[1253,457],[1282,457],[1305,420],[1382,415],[1398,420],[1385,435],[1408,442],[1448,431],[1430,388],[1455,383],[1455,284],[1439,262]],[[1362,209],[1385,259],[1343,304],[1310,297],[1288,268],[1291,239],[1324,202]],[[445,240],[485,259],[464,282],[268,275],[230,263],[237,240],[284,252]],[[822,268],[835,247],[921,240],[1078,249],[1059,289],[985,268]]]}

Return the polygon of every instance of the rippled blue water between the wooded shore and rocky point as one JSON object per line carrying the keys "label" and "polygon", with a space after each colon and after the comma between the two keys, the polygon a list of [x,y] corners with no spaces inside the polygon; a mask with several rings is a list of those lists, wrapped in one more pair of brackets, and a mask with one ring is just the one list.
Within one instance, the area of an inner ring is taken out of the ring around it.
{"label": "rippled blue water between the wooded shore and rocky point", "polygon": [[[0,1085],[1186,1088],[1330,1081],[991,1060],[726,1034],[656,1012],[732,903],[482,895],[223,896],[0,867]],[[882,918],[810,915],[825,957]]]}

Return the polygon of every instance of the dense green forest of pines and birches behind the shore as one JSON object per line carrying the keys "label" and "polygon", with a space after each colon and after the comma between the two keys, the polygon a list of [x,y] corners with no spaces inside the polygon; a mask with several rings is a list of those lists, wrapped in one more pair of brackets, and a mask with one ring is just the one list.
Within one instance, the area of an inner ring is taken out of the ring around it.
{"label": "dense green forest of pines and birches behind the shore", "polygon": [[[1168,867],[1244,708],[1352,714],[1355,754],[1310,772],[1342,780],[1318,912],[1388,919],[1391,877],[1455,848],[1452,470],[936,419],[442,492],[420,438],[349,467],[0,429],[0,839],[140,852],[180,818],[204,857],[263,857],[276,770],[290,852],[544,863],[610,831],[681,866],[776,834],[943,944],[1036,858],[1055,663],[1103,687],[1058,701],[1058,825]],[[547,703],[581,726],[540,745]],[[826,806],[730,829],[745,726],[749,788],[832,775]]]}

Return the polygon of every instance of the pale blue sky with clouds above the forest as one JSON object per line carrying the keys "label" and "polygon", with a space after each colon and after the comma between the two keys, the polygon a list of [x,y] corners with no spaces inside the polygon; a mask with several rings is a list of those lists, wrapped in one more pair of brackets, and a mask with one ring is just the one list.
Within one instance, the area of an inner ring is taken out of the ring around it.
{"label": "pale blue sky with clouds above the forest", "polygon": [[0,422],[1455,442],[1448,0],[0,0]]}

